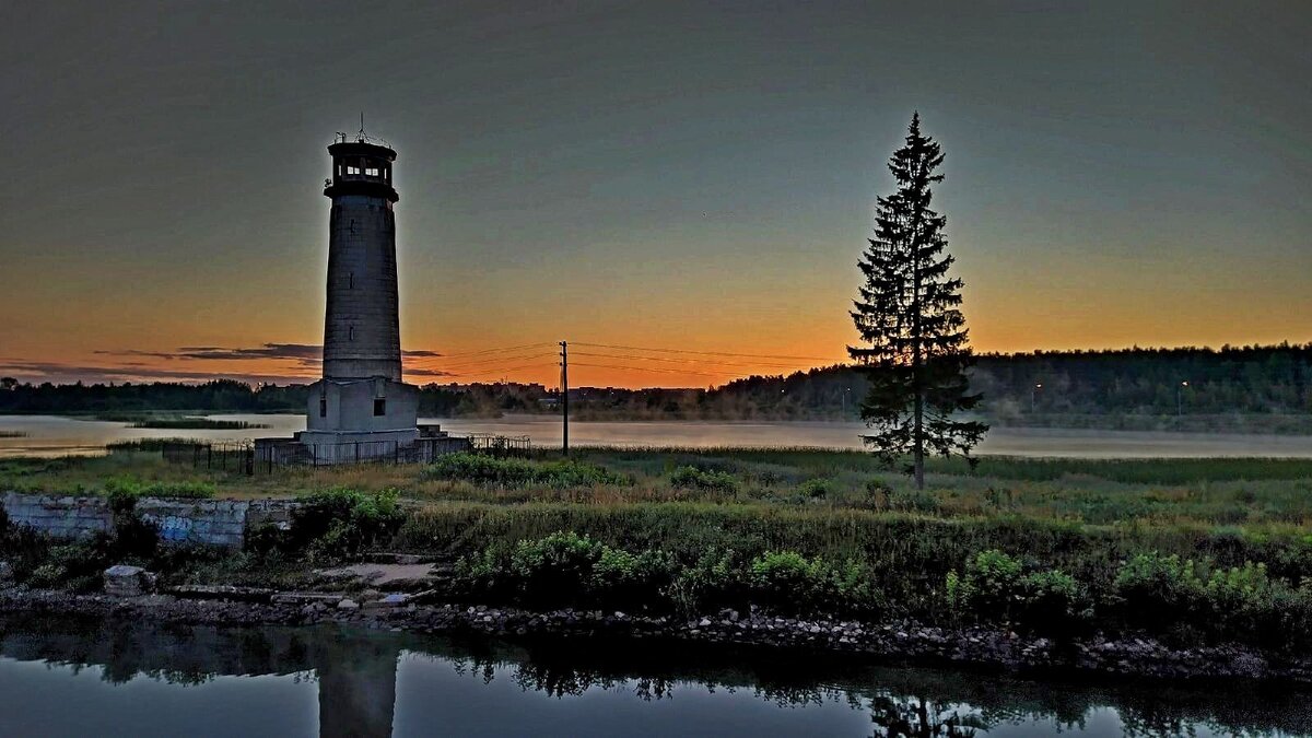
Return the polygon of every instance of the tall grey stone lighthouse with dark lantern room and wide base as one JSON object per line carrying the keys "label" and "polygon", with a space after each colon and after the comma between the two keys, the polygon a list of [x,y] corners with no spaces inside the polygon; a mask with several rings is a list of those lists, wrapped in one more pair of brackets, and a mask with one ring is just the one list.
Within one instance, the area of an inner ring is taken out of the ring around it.
{"label": "tall grey stone lighthouse with dark lantern room and wide base", "polygon": [[396,151],[361,134],[328,147],[332,176],[323,378],[306,431],[316,460],[399,453],[419,437],[419,393],[401,381],[396,288]]}

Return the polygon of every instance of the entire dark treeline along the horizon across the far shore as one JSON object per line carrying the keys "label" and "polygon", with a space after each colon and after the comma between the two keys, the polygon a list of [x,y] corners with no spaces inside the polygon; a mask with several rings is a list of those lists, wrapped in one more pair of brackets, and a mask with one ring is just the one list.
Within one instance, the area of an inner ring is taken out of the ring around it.
{"label": "entire dark treeline along the horizon across the far shore", "polygon": [[[998,424],[1088,425],[1147,429],[1312,429],[1312,344],[1211,348],[1127,348],[989,353],[971,374],[984,393],[984,414]],[[108,412],[207,410],[303,412],[304,385],[251,386],[232,380],[199,385],[30,385],[5,378],[0,412]],[[855,418],[865,378],[850,366],[789,376],[747,377],[711,389],[579,387],[579,419],[792,419]],[[428,416],[559,412],[559,393],[542,385],[428,385]]]}

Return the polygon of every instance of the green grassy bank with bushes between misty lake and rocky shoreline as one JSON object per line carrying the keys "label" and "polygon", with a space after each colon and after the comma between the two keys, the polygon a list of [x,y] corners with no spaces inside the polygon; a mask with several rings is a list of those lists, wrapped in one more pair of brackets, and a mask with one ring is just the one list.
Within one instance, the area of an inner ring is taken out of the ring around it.
{"label": "green grassy bank with bushes between misty lake and rocky shoreline", "polygon": [[249,579],[266,555],[277,569],[396,548],[459,559],[466,599],[530,607],[757,604],[1312,650],[1308,460],[991,457],[974,473],[935,461],[924,492],[866,454],[808,449],[457,454],[424,467],[256,477],[147,453],[0,462],[7,490],[102,494],[106,481],[193,483],[219,496],[358,495],[341,503],[342,520],[380,494],[400,506],[367,541],[338,545],[356,524],[329,521],[295,544],[265,540],[240,566],[184,566],[178,578]]}

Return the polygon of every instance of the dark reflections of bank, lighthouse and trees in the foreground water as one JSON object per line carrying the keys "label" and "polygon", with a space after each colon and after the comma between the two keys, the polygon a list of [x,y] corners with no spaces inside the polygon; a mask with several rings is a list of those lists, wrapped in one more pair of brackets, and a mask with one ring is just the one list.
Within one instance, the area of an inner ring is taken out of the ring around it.
{"label": "dark reflections of bank, lighthouse and trees in the foreground water", "polygon": [[[846,704],[869,712],[871,731],[888,738],[966,738],[1034,721],[1085,727],[1111,708],[1131,735],[1312,733],[1305,692],[1227,683],[1048,683],[950,670],[879,667],[853,657],[601,638],[495,640],[419,637],[336,628],[214,628],[123,620],[0,617],[0,657],[100,666],[123,683],[150,678],[203,684],[220,675],[287,675],[318,682],[321,735],[390,735],[398,659],[429,659],[483,683],[499,675],[520,689],[569,699],[590,689],[628,692],[642,701],[680,691],[748,692],[781,708]],[[450,703],[408,705],[420,717]],[[458,709],[458,705],[457,705]],[[407,713],[411,714],[411,713]]]}

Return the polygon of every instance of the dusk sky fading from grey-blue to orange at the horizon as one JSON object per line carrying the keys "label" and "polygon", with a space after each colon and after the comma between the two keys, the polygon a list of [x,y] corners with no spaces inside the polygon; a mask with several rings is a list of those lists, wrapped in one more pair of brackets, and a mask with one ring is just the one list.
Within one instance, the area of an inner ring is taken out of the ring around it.
{"label": "dusk sky fading from grey-blue to orange at the horizon", "polygon": [[22,380],[315,377],[325,147],[361,113],[399,154],[411,381],[555,385],[560,340],[594,355],[571,385],[842,361],[914,110],[976,351],[1312,341],[1305,1],[0,14]]}

